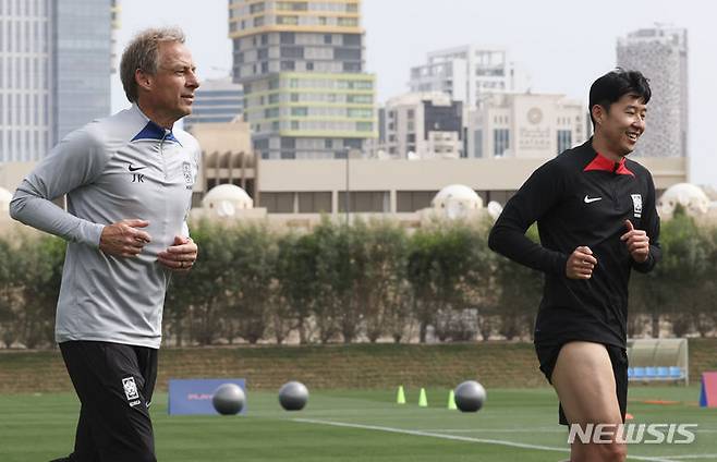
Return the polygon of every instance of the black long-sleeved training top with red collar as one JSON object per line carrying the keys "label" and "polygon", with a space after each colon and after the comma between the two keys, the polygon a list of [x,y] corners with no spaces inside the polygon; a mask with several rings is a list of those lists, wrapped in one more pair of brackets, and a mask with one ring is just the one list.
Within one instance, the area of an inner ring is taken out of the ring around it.
{"label": "black long-sleeved training top with red collar", "polygon": [[[632,259],[620,236],[625,220],[649,236],[649,256]],[[537,221],[540,244],[525,231]],[[632,268],[653,269],[660,258],[659,216],[652,175],[640,163],[613,162],[592,138],[539,167],[508,200],[490,231],[491,250],[545,273],[535,343],[572,340],[625,348],[628,282]],[[568,279],[566,264],[586,245],[597,258],[587,280]]]}

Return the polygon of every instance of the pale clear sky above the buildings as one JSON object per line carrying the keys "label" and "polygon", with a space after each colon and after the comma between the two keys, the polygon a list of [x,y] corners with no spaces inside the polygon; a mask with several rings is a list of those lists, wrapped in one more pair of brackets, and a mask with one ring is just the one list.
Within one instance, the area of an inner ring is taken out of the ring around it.
{"label": "pale clear sky above the buildings", "polygon": [[[121,50],[137,31],[179,25],[202,78],[228,75],[231,41],[227,0],[121,0]],[[590,84],[616,64],[616,40],[655,23],[689,34],[691,181],[717,184],[710,108],[717,107],[717,4],[705,0],[363,0],[366,68],[377,75],[378,101],[408,90],[412,65],[428,51],[465,44],[507,47],[532,77],[535,93],[586,102]],[[113,109],[125,107],[119,77]],[[647,126],[649,130],[649,125]]]}

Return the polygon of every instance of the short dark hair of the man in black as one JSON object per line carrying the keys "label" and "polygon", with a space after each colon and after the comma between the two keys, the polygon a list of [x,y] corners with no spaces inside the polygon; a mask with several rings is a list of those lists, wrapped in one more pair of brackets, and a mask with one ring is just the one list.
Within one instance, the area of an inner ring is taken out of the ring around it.
{"label": "short dark hair of the man in black", "polygon": [[593,86],[590,87],[588,109],[593,126],[595,126],[595,119],[593,118],[595,105],[600,105],[606,111],[609,111],[610,106],[624,95],[634,95],[646,105],[649,102],[652,94],[649,80],[642,75],[642,72],[625,71],[620,68],[608,72],[593,82]]}

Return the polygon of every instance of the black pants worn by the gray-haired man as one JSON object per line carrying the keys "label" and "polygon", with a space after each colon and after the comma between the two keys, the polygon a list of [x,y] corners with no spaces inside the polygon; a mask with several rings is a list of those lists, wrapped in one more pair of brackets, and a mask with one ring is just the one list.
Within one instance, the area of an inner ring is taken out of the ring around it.
{"label": "black pants worn by the gray-haired man", "polygon": [[60,351],[82,403],[70,460],[156,462],[148,408],[157,350],[69,341]]}

